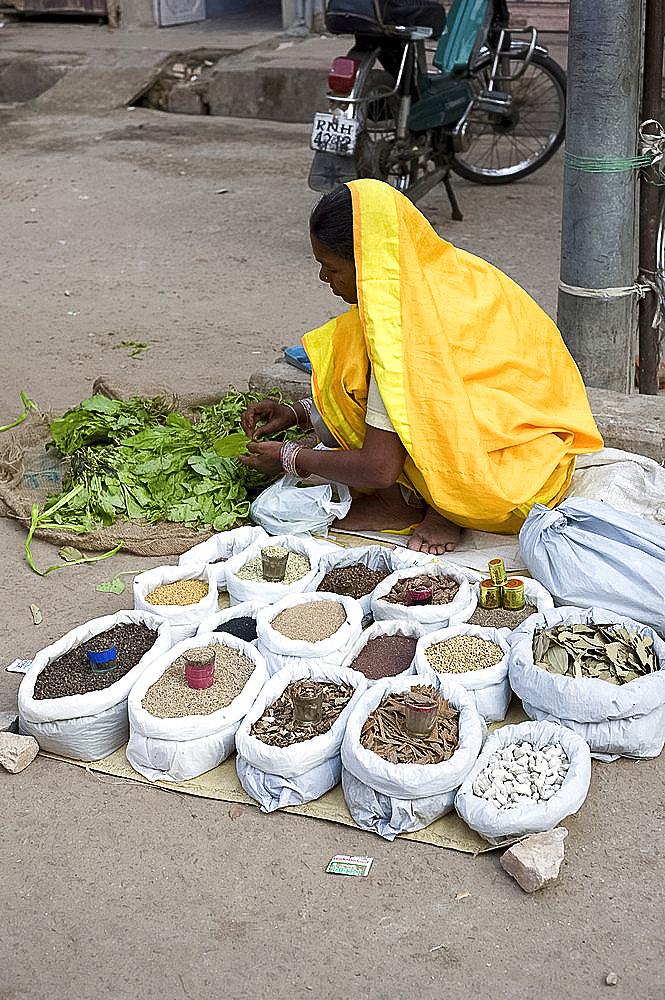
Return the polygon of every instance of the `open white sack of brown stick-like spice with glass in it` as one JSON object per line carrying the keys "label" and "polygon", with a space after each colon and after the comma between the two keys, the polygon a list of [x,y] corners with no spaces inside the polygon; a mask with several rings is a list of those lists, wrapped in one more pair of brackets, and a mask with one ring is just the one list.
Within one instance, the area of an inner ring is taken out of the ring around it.
{"label": "open white sack of brown stick-like spice with glass in it", "polygon": [[368,687],[342,742],[342,789],[355,822],[394,840],[450,812],[485,733],[469,693],[447,678]]}

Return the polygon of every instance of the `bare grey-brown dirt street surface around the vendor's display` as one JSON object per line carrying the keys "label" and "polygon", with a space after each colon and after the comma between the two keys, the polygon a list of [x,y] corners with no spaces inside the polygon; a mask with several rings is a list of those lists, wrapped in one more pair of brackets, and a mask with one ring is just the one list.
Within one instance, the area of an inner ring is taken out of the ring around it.
{"label": "bare grey-brown dirt street surface around the vendor's display", "polygon": [[[60,414],[99,375],[137,391],[244,387],[334,315],[307,242],[307,127],[0,110],[0,424],[24,391]],[[562,158],[504,189],[459,181],[422,208],[554,315]],[[145,344],[137,357],[133,345]],[[34,573],[0,520],[5,667],[131,607],[96,585],[171,560],[117,555]],[[39,568],[57,550],[33,544]],[[43,622],[32,622],[37,604]],[[473,857],[306,817],[269,816],[38,757],[0,774],[2,1000],[492,1000],[665,997],[663,760],[594,763],[558,882],[526,895]],[[367,879],[324,874],[374,857]],[[615,973],[616,986],[606,985]]]}

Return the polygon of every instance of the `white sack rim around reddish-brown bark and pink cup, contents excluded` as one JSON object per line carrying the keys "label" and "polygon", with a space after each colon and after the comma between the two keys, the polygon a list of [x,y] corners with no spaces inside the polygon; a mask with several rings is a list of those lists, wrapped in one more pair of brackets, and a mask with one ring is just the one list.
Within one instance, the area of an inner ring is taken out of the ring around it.
{"label": "white sack rim around reddish-brown bark and pink cup, contents excluded", "polygon": [[[452,576],[459,582],[460,587],[448,604],[425,604],[407,608],[405,604],[391,604],[383,599],[400,580],[416,576]],[[372,594],[371,610],[374,621],[382,621],[385,618],[415,621],[434,631],[454,622],[467,621],[475,611],[476,604],[477,597],[464,570],[445,559],[432,559],[431,562],[422,563],[417,567],[396,570],[386,577]]]}

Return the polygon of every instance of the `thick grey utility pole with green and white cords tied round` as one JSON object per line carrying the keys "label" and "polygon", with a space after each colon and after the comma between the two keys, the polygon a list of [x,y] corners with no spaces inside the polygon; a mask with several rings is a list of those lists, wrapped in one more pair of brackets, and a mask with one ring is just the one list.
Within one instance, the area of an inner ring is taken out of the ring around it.
{"label": "thick grey utility pole with green and white cords tied round", "polygon": [[587,385],[633,384],[642,4],[571,0],[558,324]]}

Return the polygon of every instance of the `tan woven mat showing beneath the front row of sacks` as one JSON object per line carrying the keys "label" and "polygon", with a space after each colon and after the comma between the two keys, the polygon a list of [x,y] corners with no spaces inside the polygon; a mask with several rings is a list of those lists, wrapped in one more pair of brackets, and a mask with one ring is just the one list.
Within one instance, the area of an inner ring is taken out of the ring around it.
{"label": "tan woven mat showing beneath the front row of sacks", "polygon": [[[502,723],[496,723],[489,728],[494,729],[497,725],[507,725],[508,723],[523,722],[526,719],[522,706],[517,699],[513,699],[508,709],[508,714]],[[126,778],[143,785],[156,785],[158,788],[166,788],[172,792],[181,792],[183,795],[198,795],[206,799],[221,799],[224,802],[241,802],[244,805],[255,806],[252,799],[238,780],[236,773],[235,754],[225,760],[218,767],[199,775],[197,778],[190,778],[188,781],[149,781],[143,775],[138,774],[131,766],[125,756],[125,748],[121,747],[115,753],[104,757],[103,760],[86,763],[85,761],[73,760],[71,757],[63,757],[60,754],[46,753],[41,751],[43,756],[51,757],[54,760],[62,760],[68,764],[76,764],[84,767],[87,771],[100,774],[109,774],[117,778]],[[315,819],[325,819],[332,823],[343,823],[345,826],[356,826],[347,804],[342,794],[342,786],[326,792],[321,798],[314,802],[307,802],[302,806],[288,806],[284,812],[298,813],[302,816],[313,816]],[[434,847],[448,847],[455,851],[464,851],[467,854],[481,854],[484,851],[495,850],[486,840],[483,840],[475,831],[471,830],[457,813],[451,812],[447,816],[431,823],[424,830],[417,830],[415,833],[400,834],[401,838],[416,840],[423,844],[432,844]]]}

